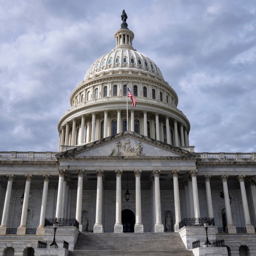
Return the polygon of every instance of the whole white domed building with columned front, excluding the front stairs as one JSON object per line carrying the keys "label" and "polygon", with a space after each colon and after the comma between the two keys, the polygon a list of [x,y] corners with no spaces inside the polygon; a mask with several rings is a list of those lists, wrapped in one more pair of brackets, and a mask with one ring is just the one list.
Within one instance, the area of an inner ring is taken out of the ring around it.
{"label": "whole white domed building with columned front, excluding the front stairs", "polygon": [[70,251],[84,233],[178,233],[199,255],[206,217],[209,239],[225,242],[207,255],[256,255],[256,153],[194,151],[175,90],[126,19],[73,90],[58,152],[0,152],[0,255],[49,255],[38,240],[55,217]]}

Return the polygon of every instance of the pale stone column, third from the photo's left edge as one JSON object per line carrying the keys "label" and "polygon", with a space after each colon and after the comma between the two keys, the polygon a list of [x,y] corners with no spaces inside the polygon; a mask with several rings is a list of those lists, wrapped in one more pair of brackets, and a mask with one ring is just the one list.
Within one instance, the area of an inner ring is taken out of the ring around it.
{"label": "pale stone column, third from the photo's left edge", "polygon": [[49,186],[50,177],[51,175],[43,175],[44,189],[43,189],[43,196],[42,196],[40,221],[39,221],[39,226],[36,230],[37,235],[44,235],[44,221],[45,221],[45,215],[46,215],[48,186]]}

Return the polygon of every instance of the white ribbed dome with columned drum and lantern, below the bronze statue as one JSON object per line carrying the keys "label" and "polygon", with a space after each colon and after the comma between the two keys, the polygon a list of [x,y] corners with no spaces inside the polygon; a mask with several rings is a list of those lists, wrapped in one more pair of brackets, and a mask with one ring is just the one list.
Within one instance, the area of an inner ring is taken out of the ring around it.
{"label": "white ribbed dome with columned drum and lantern, below the bronze statue", "polygon": [[[190,124],[177,109],[175,90],[157,64],[134,49],[126,22],[114,38],[116,47],[93,62],[70,96],[71,108],[58,122],[59,151],[126,130],[189,149]],[[136,107],[130,99],[127,104],[127,88]]]}

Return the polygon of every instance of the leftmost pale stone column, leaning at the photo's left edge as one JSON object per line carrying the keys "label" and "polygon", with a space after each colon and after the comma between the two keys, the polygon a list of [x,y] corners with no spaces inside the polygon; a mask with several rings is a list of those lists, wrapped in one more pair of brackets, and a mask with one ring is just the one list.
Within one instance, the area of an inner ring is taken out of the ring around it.
{"label": "leftmost pale stone column, leaning at the photo's left edge", "polygon": [[6,228],[7,228],[7,222],[9,217],[9,207],[10,207],[10,200],[11,200],[11,194],[12,194],[12,182],[15,178],[15,175],[10,174],[6,175],[8,179],[7,188],[6,188],[6,197],[4,201],[3,206],[3,216],[2,216],[2,222],[0,227],[0,234],[5,235],[6,234]]}

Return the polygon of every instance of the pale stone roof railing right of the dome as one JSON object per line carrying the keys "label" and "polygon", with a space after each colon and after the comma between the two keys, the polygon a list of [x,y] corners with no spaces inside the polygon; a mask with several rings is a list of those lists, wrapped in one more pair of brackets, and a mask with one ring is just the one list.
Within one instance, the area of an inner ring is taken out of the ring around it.
{"label": "pale stone roof railing right of the dome", "polygon": [[256,153],[198,153],[203,159],[256,159]]}

